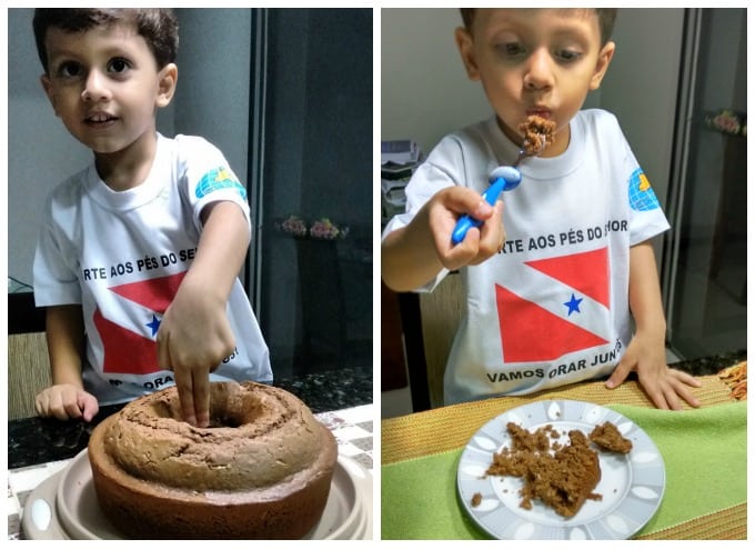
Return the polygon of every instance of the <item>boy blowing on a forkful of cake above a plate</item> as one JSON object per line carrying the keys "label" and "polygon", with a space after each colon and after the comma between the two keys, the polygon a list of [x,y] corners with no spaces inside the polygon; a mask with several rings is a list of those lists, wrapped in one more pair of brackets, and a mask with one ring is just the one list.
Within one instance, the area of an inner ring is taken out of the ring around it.
{"label": "boy blowing on a forkful of cake above a plate", "polygon": [[[439,143],[382,244],[382,276],[397,291],[432,290],[463,268],[466,318],[449,357],[446,403],[608,375],[614,388],[635,370],[656,407],[698,406],[689,387],[699,382],[665,361],[648,239],[668,223],[616,119],[580,110],[613,57],[615,10],[462,17],[456,44],[495,116]],[[528,116],[554,121],[555,140],[522,161],[522,183],[491,207],[481,200],[487,176],[516,160]],[[484,222],[453,246],[465,213]]]}

